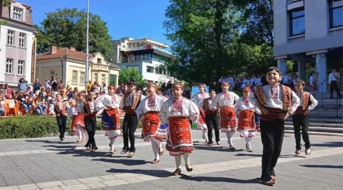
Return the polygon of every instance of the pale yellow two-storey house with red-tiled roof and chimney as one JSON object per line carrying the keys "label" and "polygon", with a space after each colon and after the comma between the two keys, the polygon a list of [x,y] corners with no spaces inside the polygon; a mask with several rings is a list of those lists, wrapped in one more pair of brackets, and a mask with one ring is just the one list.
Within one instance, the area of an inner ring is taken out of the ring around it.
{"label": "pale yellow two-storey house with red-tiled roof and chimney", "polygon": [[[104,59],[101,53],[89,54],[88,78],[98,84],[118,85],[119,66]],[[75,47],[57,49],[50,46],[50,52],[37,55],[36,78],[40,81],[51,80],[52,77],[62,80],[64,86],[85,89],[86,54],[75,51]]]}

